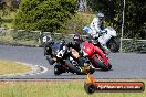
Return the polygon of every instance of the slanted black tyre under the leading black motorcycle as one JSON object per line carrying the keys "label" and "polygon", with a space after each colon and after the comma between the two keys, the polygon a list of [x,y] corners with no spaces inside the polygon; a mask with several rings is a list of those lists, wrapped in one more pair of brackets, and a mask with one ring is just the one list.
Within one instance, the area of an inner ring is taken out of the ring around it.
{"label": "slanted black tyre under the leading black motorcycle", "polygon": [[83,73],[80,68],[75,67],[69,60],[65,60],[65,64],[73,73],[76,73],[77,75],[85,75],[85,73]]}

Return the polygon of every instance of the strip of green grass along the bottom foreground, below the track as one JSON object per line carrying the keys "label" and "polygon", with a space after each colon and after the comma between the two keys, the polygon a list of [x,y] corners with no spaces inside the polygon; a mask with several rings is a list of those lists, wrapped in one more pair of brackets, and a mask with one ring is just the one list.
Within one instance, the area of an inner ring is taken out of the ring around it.
{"label": "strip of green grass along the bottom foreground, below the track", "polygon": [[146,97],[146,91],[88,95],[84,90],[83,80],[1,82],[0,97]]}

